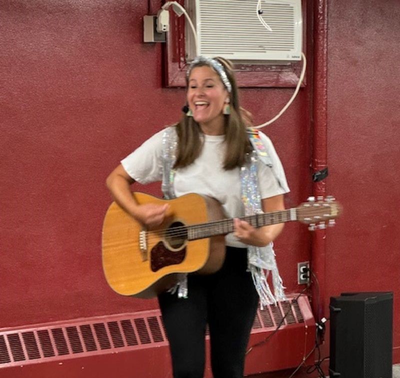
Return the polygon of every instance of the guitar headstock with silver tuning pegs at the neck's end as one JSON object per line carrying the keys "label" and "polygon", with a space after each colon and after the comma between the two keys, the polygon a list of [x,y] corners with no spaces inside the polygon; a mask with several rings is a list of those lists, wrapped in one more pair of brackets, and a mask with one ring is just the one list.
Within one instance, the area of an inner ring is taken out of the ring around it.
{"label": "guitar headstock with silver tuning pegs at the neck's end", "polygon": [[308,224],[308,229],[324,229],[326,226],[332,227],[335,219],[341,213],[341,206],[332,196],[309,197],[307,202],[303,202],[296,208],[297,220]]}

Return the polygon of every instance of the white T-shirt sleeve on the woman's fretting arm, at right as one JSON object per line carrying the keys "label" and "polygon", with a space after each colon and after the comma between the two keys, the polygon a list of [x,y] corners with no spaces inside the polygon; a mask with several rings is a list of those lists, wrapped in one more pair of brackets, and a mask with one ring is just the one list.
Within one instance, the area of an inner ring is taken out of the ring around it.
{"label": "white T-shirt sleeve on the woman's fretting arm, at right", "polygon": [[272,167],[267,166],[259,160],[257,163],[258,185],[261,198],[288,193],[290,189],[287,185],[283,166],[271,140],[262,132],[259,132],[259,136],[272,162]]}

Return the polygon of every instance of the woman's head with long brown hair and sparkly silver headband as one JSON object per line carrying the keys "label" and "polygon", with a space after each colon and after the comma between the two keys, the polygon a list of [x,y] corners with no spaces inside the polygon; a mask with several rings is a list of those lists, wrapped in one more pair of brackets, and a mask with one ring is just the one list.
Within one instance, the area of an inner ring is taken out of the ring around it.
{"label": "woman's head with long brown hair and sparkly silver headband", "polygon": [[180,143],[175,168],[183,168],[198,157],[202,145],[200,134],[224,135],[223,167],[241,166],[251,146],[232,64],[223,58],[197,57],[187,70],[186,85],[189,111],[176,126]]}

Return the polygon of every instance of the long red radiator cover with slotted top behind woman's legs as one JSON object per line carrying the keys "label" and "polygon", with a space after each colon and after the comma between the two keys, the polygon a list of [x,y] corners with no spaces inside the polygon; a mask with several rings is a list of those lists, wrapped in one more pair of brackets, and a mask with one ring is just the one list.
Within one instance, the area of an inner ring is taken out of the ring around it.
{"label": "long red radiator cover with slotted top behind woman's legs", "polygon": [[[257,311],[245,375],[296,367],[312,350],[315,322],[309,302],[296,297]],[[115,370],[118,378],[172,377],[159,310],[0,329],[2,378],[99,378]],[[211,377],[208,359],[205,377]]]}

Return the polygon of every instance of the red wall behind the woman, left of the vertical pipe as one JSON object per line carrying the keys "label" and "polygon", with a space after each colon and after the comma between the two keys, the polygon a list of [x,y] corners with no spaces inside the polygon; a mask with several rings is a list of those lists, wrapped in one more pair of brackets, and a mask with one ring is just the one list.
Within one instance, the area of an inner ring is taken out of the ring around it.
{"label": "red wall behind the woman, left of the vertical pipe", "polygon": [[[154,308],[154,301],[108,288],[100,248],[107,174],[176,121],[185,102],[183,89],[162,86],[161,44],[142,42],[147,1],[14,0],[0,7],[1,326]],[[262,122],[291,94],[246,89],[242,103]],[[304,112],[302,90],[268,130],[287,169],[292,205],[310,187]],[[307,259],[307,237],[290,225],[277,243],[290,290],[296,262]]]}

